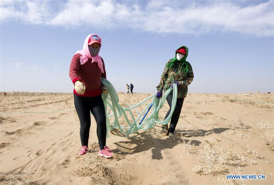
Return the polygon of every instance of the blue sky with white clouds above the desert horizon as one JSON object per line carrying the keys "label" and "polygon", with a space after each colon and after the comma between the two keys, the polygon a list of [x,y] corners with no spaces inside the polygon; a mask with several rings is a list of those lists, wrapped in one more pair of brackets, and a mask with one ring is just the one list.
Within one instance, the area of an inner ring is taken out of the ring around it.
{"label": "blue sky with white clouds above the desert horizon", "polygon": [[156,92],[186,45],[189,92],[274,91],[273,1],[1,1],[1,91],[72,92],[69,64],[87,35],[117,91]]}

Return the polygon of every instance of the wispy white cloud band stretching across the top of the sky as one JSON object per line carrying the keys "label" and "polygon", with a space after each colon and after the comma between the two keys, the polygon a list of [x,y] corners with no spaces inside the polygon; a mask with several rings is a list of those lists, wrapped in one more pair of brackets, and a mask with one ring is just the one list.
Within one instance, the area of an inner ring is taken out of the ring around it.
{"label": "wispy white cloud band stretching across the top of the sky", "polygon": [[[1,22],[20,19],[31,24],[69,28],[130,28],[152,33],[204,34],[215,31],[272,36],[273,1],[244,6],[237,2],[187,1],[51,1],[2,3]],[[19,6],[19,9],[15,7]],[[56,11],[54,11],[56,10]]]}

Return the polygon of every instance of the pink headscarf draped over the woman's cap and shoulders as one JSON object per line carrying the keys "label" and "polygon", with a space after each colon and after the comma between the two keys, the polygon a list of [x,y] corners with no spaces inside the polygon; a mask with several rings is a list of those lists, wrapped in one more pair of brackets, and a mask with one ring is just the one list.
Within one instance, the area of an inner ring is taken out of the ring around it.
{"label": "pink headscarf draped over the woman's cap and shoulders", "polygon": [[83,50],[79,50],[75,54],[79,53],[80,55],[82,55],[82,57],[80,57],[81,65],[85,64],[90,58],[90,59],[92,59],[92,61],[91,61],[92,63],[97,62],[98,67],[100,68],[101,72],[104,73],[103,63],[102,63],[101,57],[98,54],[95,55],[94,57],[91,56],[91,54],[90,54],[90,50],[89,50],[89,47],[88,47],[88,42],[89,42],[90,36],[92,36],[92,35],[96,35],[96,34],[88,35],[85,39]]}

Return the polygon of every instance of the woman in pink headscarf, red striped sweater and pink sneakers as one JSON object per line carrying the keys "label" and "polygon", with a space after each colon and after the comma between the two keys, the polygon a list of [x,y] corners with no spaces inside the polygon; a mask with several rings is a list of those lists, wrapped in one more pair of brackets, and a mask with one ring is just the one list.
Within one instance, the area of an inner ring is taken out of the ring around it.
{"label": "woman in pink headscarf, red striped sweater and pink sneakers", "polygon": [[80,120],[80,155],[88,152],[90,133],[90,111],[97,123],[97,137],[100,150],[98,155],[112,157],[106,146],[107,125],[102,93],[107,93],[101,85],[101,77],[107,78],[104,60],[98,55],[101,49],[101,38],[96,34],[86,37],[83,50],[72,57],[69,77],[74,84],[74,105]]}

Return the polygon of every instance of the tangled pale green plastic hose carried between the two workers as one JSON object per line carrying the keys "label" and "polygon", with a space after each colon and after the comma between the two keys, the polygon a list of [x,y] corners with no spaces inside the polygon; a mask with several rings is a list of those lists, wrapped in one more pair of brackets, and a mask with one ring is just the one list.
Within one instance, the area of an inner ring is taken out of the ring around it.
{"label": "tangled pale green plastic hose carried between the two workers", "polygon": [[[149,128],[153,128],[156,124],[166,125],[170,121],[177,101],[177,84],[173,84],[173,97],[170,114],[167,119],[161,121],[158,117],[158,114],[165,100],[167,99],[168,94],[170,94],[170,91],[172,90],[171,87],[165,92],[163,98],[158,99],[156,98],[156,94],[153,94],[130,108],[122,108],[121,105],[119,105],[118,94],[113,85],[105,78],[101,78],[101,82],[108,90],[107,94],[102,94],[105,105],[105,112],[107,115],[107,138],[109,138],[109,131],[114,128],[119,129],[128,137],[129,134],[138,132],[138,130],[147,130]],[[152,100],[152,102],[146,106],[146,108],[139,114],[137,118],[134,118],[131,110],[150,99]],[[153,104],[153,112],[139,125],[138,121],[141,119],[142,115],[151,104]],[[108,107],[109,109],[107,109]],[[112,111],[111,114],[110,111]],[[126,115],[126,111],[128,111],[128,113],[130,114],[130,117],[133,120],[132,122],[129,121],[128,116]],[[110,123],[110,118],[112,116],[114,117],[114,121]],[[128,127],[123,127],[120,125],[118,118],[121,116],[125,117],[125,120],[128,123]]]}

